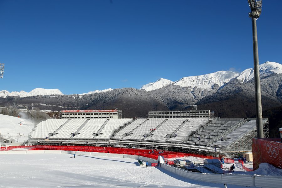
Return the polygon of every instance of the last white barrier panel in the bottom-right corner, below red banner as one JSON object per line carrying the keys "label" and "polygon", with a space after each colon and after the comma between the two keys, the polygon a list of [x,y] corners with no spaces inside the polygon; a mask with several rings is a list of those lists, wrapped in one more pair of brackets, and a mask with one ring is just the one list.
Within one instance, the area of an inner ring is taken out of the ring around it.
{"label": "last white barrier panel in the bottom-right corner, below red banner", "polygon": [[281,176],[257,175],[254,176],[254,179],[256,187],[273,188],[282,186]]}

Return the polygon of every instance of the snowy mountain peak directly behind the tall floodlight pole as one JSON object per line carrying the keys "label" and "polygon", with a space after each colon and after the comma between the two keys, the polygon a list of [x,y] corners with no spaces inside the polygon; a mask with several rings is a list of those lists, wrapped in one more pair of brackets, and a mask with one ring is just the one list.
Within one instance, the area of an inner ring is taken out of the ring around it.
{"label": "snowy mountain peak directly behind the tall floodlight pole", "polygon": [[[282,73],[282,65],[275,62],[265,62],[259,65],[259,75],[260,76],[269,76],[273,73],[281,74]],[[241,72],[236,78],[242,82],[247,82],[254,77],[253,68],[246,69]]]}

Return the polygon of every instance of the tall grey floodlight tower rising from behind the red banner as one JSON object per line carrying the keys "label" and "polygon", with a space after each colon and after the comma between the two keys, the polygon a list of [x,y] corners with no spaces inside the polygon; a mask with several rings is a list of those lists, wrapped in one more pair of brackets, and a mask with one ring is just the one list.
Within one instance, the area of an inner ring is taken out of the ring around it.
{"label": "tall grey floodlight tower rising from behind the red banner", "polygon": [[248,0],[251,12],[249,17],[253,23],[253,70],[255,80],[255,97],[256,97],[256,122],[257,122],[257,137],[264,138],[263,122],[262,122],[262,107],[260,94],[259,80],[259,52],[258,52],[258,35],[257,35],[257,19],[261,13],[262,0]]}

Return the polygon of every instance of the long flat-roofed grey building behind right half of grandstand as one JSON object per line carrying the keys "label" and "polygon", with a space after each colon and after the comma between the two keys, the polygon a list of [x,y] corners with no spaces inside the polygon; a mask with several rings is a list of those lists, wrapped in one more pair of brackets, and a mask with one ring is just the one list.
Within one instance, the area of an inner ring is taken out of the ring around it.
{"label": "long flat-roofed grey building behind right half of grandstand", "polygon": [[148,118],[212,118],[210,110],[150,111]]}

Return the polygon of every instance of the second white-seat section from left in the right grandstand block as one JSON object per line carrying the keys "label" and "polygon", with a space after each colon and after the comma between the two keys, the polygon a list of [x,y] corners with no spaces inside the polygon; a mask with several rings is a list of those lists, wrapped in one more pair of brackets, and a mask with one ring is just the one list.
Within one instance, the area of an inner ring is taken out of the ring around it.
{"label": "second white-seat section from left in the right grandstand block", "polygon": [[131,135],[124,137],[124,139],[140,140],[142,137],[144,137],[144,134],[150,133],[150,129],[156,128],[165,120],[165,118],[149,119],[138,128],[136,128]]}

